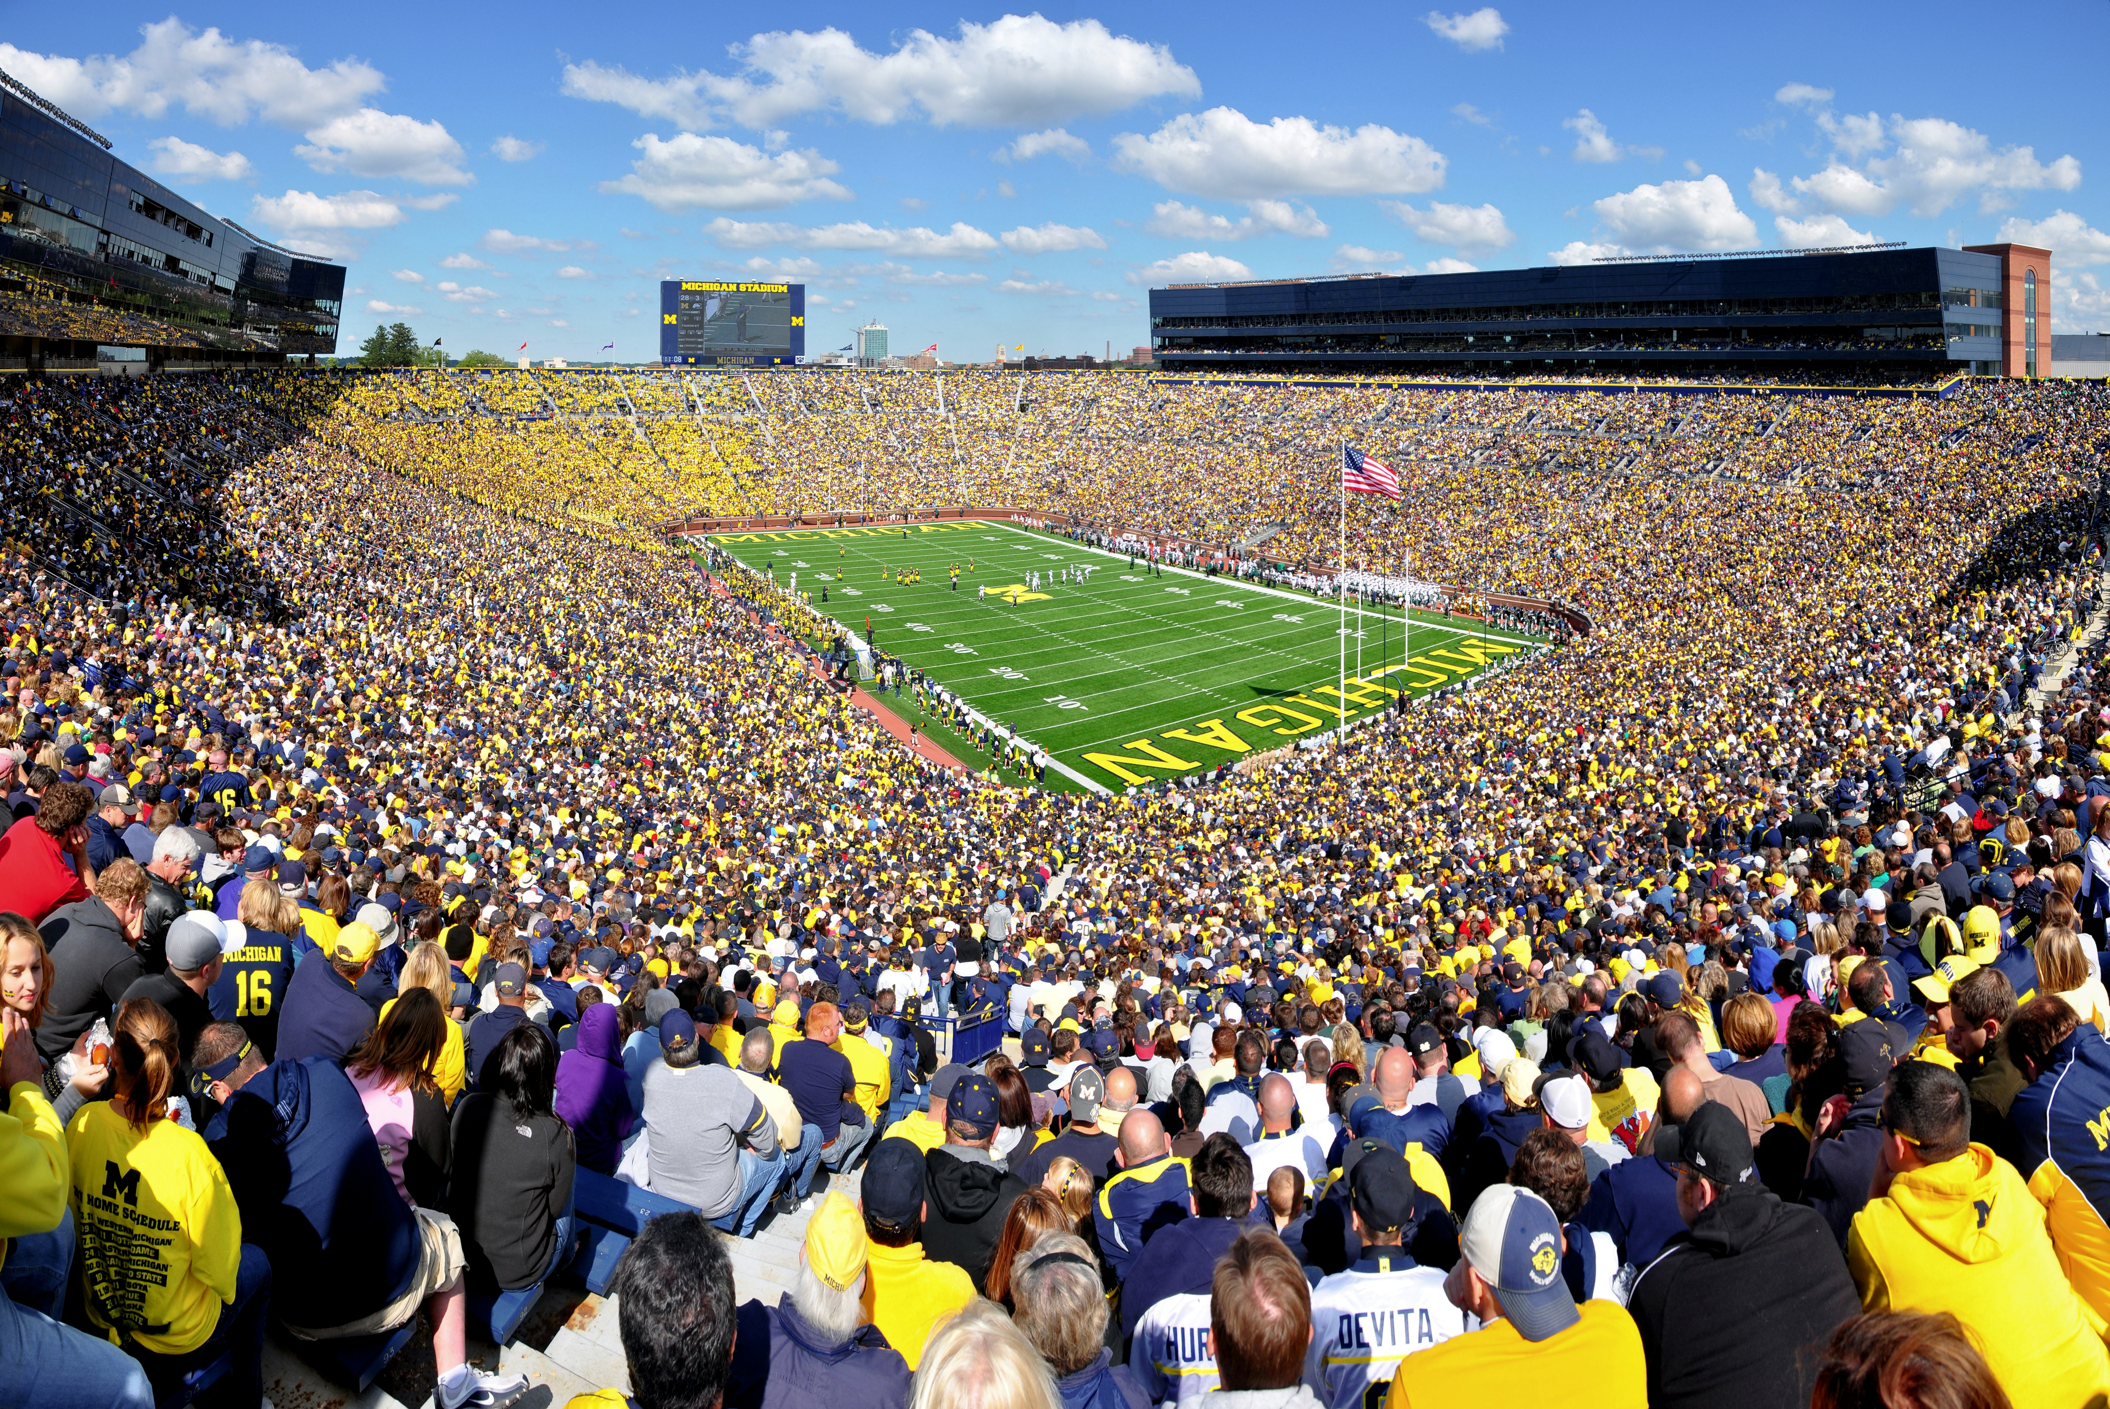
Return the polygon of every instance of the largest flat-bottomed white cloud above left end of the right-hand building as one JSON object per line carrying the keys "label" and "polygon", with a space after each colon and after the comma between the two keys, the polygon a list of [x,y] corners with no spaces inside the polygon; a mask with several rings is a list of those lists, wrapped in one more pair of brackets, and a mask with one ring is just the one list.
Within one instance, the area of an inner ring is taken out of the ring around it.
{"label": "largest flat-bottomed white cloud above left end of the right-hand building", "polygon": [[1445,167],[1420,137],[1376,122],[1355,131],[1310,118],[1253,122],[1236,108],[1188,112],[1148,137],[1120,133],[1114,150],[1123,171],[1220,200],[1422,194],[1443,186]]}

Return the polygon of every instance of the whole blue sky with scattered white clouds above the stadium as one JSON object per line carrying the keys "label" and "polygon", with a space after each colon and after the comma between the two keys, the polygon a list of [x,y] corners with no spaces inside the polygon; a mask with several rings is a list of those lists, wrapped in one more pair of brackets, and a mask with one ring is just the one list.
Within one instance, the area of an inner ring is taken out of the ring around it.
{"label": "whole blue sky with scattered white clouds above the stadium", "polygon": [[1123,354],[1154,283],[1867,238],[2049,245],[2055,327],[2110,329],[2099,0],[2030,36],[1836,2],[755,13],[15,6],[0,67],[350,259],[348,344],[646,361],[656,281],[745,276],[808,285],[810,350],[876,316],[897,352]]}

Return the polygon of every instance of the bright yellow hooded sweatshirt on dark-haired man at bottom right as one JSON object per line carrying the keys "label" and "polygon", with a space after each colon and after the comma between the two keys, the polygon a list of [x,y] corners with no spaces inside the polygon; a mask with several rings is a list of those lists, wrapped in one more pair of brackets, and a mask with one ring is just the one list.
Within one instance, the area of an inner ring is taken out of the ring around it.
{"label": "bright yellow hooded sweatshirt on dark-haired man at bottom right", "polygon": [[2059,1270],[2045,1207],[1986,1145],[1897,1175],[1855,1215],[1846,1268],[1872,1312],[1954,1312],[2015,1405],[2110,1394],[2104,1323]]}

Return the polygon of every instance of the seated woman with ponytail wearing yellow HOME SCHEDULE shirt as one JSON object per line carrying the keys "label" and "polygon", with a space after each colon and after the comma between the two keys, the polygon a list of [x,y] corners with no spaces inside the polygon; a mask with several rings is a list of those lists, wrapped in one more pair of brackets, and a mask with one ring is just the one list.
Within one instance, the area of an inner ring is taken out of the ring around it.
{"label": "seated woman with ponytail wearing yellow HOME SCHEDULE shirt", "polygon": [[264,1394],[270,1263],[243,1244],[219,1160],[169,1107],[179,1065],[169,1010],[127,1000],[112,1025],[112,1097],[65,1126],[87,1314],[139,1360],[156,1394],[232,1354],[217,1394],[247,1407]]}

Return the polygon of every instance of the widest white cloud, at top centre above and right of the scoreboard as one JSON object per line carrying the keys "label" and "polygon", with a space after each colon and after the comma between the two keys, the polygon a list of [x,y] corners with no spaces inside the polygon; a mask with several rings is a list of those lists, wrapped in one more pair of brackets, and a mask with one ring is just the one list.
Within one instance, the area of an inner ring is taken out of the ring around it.
{"label": "widest white cloud, at top centre above and right of the scoreboard", "polygon": [[926,116],[937,127],[1040,127],[1108,114],[1150,97],[1196,97],[1194,70],[1163,44],[1114,36],[1097,19],[1055,23],[1004,15],[960,23],[958,38],[909,30],[893,53],[861,49],[842,30],[757,34],[734,44],[741,72],[641,78],[570,63],[563,91],[686,129],[738,122],[768,129],[808,112],[861,122]]}

